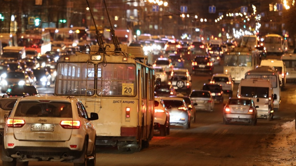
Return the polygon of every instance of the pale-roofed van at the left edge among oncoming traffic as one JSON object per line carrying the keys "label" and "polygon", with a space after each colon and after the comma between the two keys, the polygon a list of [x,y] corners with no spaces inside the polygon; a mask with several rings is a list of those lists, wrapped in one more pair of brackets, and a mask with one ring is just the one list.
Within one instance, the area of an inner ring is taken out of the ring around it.
{"label": "pale-roofed van at the left edge among oncoming traffic", "polygon": [[26,57],[25,47],[20,46],[6,46],[3,47],[3,58],[20,60]]}

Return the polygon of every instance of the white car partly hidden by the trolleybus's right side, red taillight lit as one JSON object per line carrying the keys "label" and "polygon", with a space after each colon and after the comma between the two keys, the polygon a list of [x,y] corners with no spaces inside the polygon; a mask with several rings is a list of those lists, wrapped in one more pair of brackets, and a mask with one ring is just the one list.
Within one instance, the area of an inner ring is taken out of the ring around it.
{"label": "white car partly hidden by the trolleybus's right side, red taillight lit", "polygon": [[154,129],[159,130],[160,136],[170,134],[170,113],[160,97],[154,98]]}

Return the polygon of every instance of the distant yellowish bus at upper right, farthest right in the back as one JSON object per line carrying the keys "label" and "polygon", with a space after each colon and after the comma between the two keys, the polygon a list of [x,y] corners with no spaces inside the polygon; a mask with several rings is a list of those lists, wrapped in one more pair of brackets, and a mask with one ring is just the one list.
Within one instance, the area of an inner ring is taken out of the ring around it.
{"label": "distant yellowish bus at upper right, farthest right in the back", "polygon": [[285,52],[284,38],[278,34],[268,34],[264,37],[266,54],[282,55]]}

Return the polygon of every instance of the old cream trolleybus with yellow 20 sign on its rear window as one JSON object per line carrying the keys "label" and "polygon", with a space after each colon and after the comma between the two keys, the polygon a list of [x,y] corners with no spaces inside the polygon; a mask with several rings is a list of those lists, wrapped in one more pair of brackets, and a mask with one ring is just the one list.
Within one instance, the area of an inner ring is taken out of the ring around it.
{"label": "old cream trolleybus with yellow 20 sign on its rear window", "polygon": [[[76,96],[88,113],[98,113],[92,121],[97,145],[130,148],[138,152],[149,145],[154,131],[154,69],[152,57],[141,47],[92,45],[89,54],[76,52],[57,61],[56,96]],[[157,78],[156,84],[160,84]]]}

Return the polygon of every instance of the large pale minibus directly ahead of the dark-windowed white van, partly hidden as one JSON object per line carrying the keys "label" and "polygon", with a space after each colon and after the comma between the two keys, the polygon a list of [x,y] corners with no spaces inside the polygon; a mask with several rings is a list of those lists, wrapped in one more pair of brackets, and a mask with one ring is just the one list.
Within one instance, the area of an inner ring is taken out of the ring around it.
{"label": "large pale minibus directly ahead of the dark-windowed white van, partly hidden", "polygon": [[277,71],[269,68],[256,68],[245,73],[245,79],[252,78],[270,81],[271,87],[273,89],[273,94],[276,94],[277,96],[275,99],[273,99],[273,110],[278,111],[281,103],[281,89]]}

